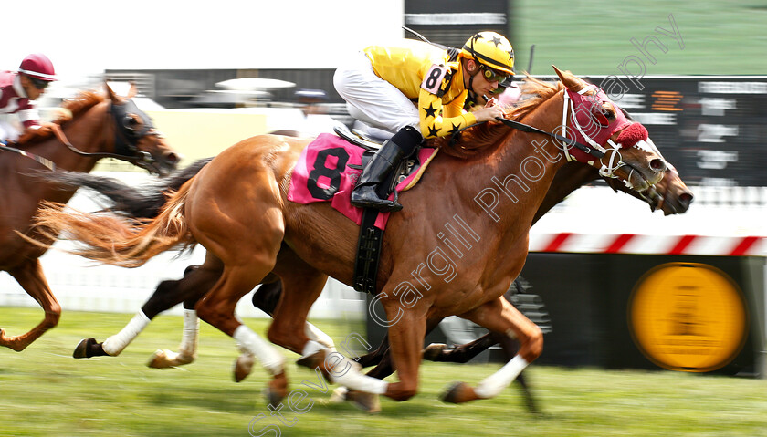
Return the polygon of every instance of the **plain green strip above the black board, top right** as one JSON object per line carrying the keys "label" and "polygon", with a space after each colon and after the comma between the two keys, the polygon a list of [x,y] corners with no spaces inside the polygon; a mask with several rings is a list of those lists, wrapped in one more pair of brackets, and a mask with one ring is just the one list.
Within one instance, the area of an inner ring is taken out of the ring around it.
{"label": "plain green strip above the black board, top right", "polygon": [[[512,8],[511,41],[516,68],[528,68],[535,44],[532,74],[551,75],[552,64],[576,75],[621,77],[618,66],[629,56],[639,57],[645,75],[767,74],[767,3],[760,0],[605,1],[520,0]],[[684,42],[656,31],[673,32],[674,17]],[[653,44],[648,51],[657,62],[642,56],[630,40],[657,38],[667,52]],[[639,68],[632,65],[635,74]]]}

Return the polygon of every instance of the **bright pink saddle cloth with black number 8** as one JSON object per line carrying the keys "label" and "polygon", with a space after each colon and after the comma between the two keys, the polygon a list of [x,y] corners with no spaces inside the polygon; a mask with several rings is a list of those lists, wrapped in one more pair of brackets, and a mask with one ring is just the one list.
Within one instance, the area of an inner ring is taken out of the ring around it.
{"label": "bright pink saddle cloth with black number 8", "polygon": [[[303,204],[330,202],[335,210],[355,224],[361,224],[362,208],[352,206],[350,200],[352,189],[362,173],[362,151],[362,148],[334,134],[321,133],[301,151],[290,179],[288,200]],[[415,184],[436,151],[428,148],[418,151],[414,171],[397,183],[397,192],[405,191]],[[389,199],[394,199],[394,193]],[[389,213],[379,213],[375,227],[385,229],[388,220]]]}

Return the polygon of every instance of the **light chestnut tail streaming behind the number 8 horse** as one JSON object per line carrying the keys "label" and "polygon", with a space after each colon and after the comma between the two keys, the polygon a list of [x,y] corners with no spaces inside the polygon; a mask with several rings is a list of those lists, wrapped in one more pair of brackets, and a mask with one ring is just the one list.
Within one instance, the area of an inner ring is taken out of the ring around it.
{"label": "light chestnut tail streaming behind the number 8 horse", "polygon": [[152,221],[137,222],[118,215],[70,213],[63,205],[46,203],[37,214],[37,230],[48,238],[64,232],[79,245],[68,252],[121,267],[138,267],[172,248],[196,244],[184,219],[184,204],[192,182],[185,183]]}

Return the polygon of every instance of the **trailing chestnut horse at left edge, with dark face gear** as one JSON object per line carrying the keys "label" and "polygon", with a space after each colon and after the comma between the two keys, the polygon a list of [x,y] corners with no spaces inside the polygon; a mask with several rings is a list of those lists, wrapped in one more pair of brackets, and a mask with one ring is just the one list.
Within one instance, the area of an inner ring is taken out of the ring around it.
{"label": "trailing chestnut horse at left edge, with dark face gear", "polygon": [[90,172],[104,157],[166,173],[178,161],[176,153],[152,129],[151,120],[132,103],[135,88],[127,98],[106,88],[105,93],[83,92],[66,101],[62,107],[65,115],[53,124],[24,135],[12,149],[0,148],[0,269],[13,276],[45,312],[43,321],[26,334],[9,337],[0,329],[0,346],[25,349],[55,327],[61,314],[38,259],[46,248],[29,243],[19,234],[52,244],[54,235],[33,229],[32,218],[41,203],[67,203],[76,188],[62,189],[35,173],[46,171],[46,167]]}

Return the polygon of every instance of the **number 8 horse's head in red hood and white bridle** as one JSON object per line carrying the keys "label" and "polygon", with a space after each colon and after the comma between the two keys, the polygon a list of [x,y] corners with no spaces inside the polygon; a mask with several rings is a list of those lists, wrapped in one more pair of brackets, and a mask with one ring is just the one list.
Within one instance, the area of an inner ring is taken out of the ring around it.
{"label": "number 8 horse's head in red hood and white bridle", "polygon": [[566,88],[564,105],[570,106],[570,115],[562,117],[564,136],[604,153],[595,160],[583,150],[562,144],[568,160],[586,162],[602,176],[621,179],[636,192],[646,192],[660,182],[667,163],[646,128],[629,120],[603,90],[569,71],[553,68]]}

